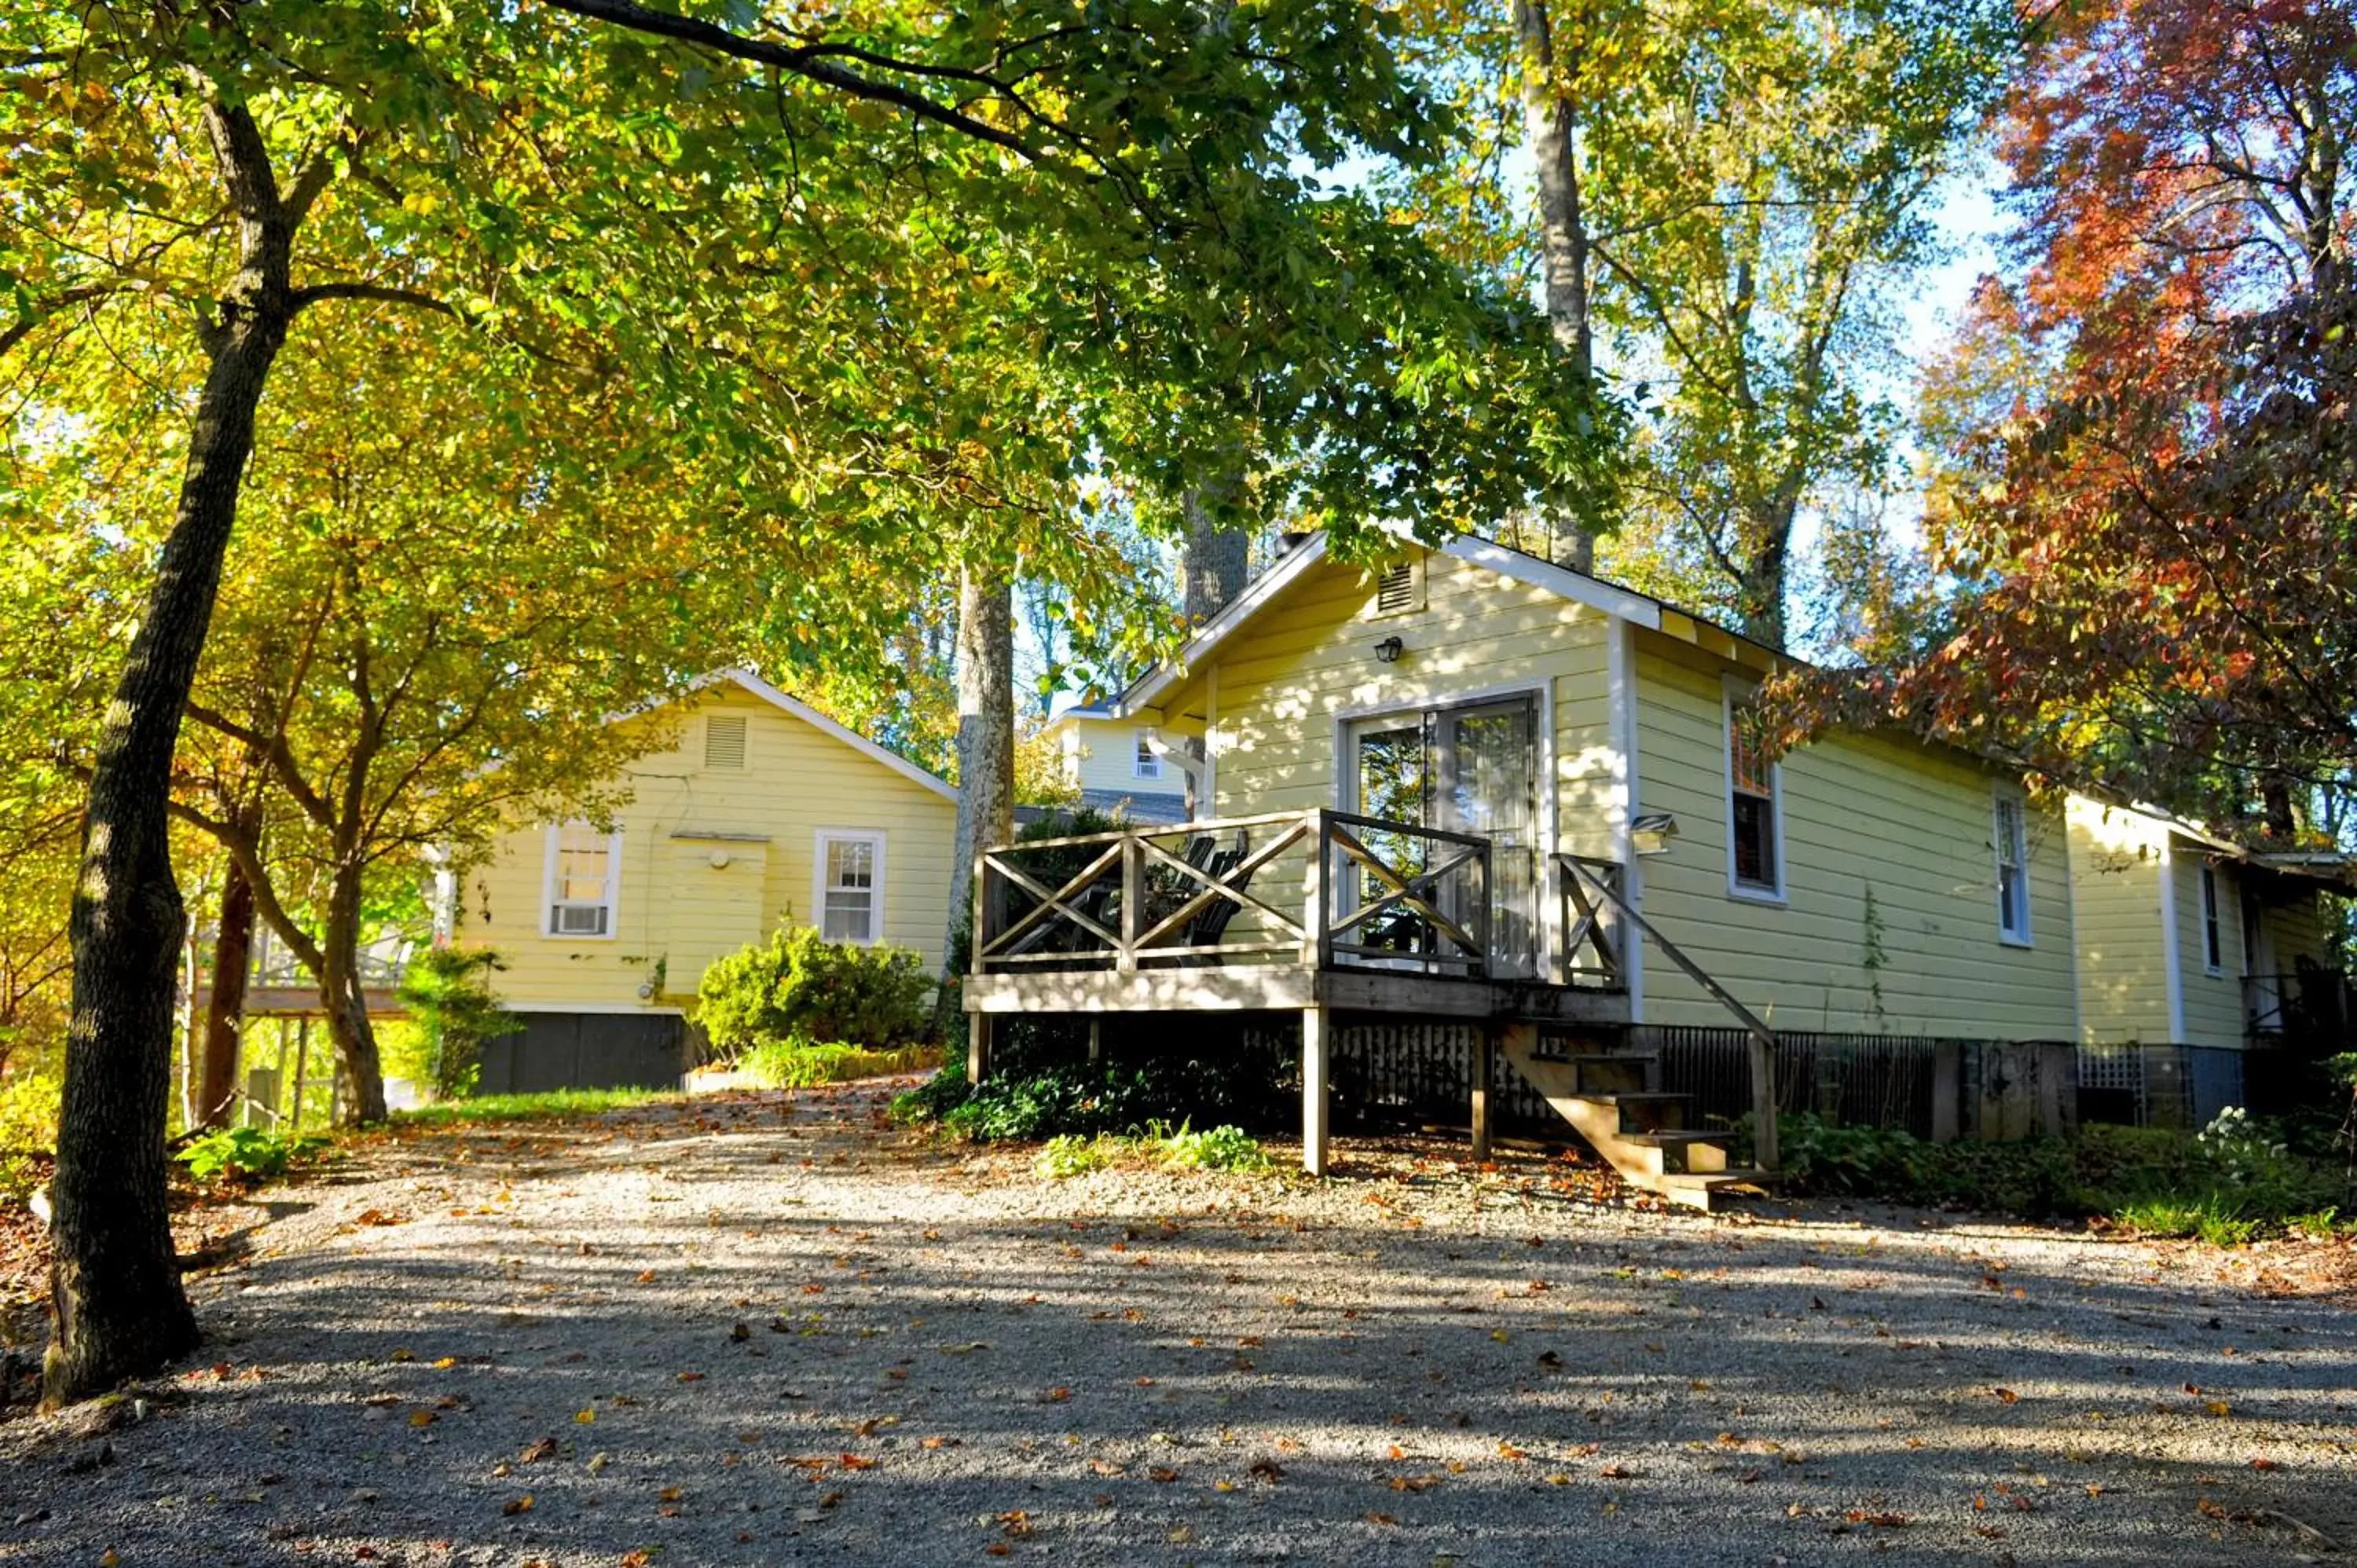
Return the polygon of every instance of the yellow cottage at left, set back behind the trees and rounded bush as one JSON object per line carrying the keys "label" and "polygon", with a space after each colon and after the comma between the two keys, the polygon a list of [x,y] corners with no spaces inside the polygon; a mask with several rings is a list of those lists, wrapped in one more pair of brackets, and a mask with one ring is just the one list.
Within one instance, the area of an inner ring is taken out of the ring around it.
{"label": "yellow cottage at left, set back behind the trees and rounded bush", "polygon": [[460,889],[455,936],[500,953],[523,1019],[486,1094],[676,1085],[705,964],[785,920],[938,969],[957,790],[740,670],[620,724],[667,743],[613,828],[509,832]]}

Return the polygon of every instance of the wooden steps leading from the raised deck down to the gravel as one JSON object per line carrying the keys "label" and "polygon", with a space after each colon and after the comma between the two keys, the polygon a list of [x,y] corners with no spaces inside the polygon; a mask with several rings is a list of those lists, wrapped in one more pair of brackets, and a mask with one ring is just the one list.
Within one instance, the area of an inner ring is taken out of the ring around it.
{"label": "wooden steps leading from the raised deck down to the gravel", "polygon": [[1662,1092],[1659,1052],[1539,1052],[1537,1023],[1499,1030],[1499,1054],[1629,1186],[1709,1212],[1711,1193],[1765,1181],[1728,1165],[1735,1134],[1685,1125],[1692,1096]]}

